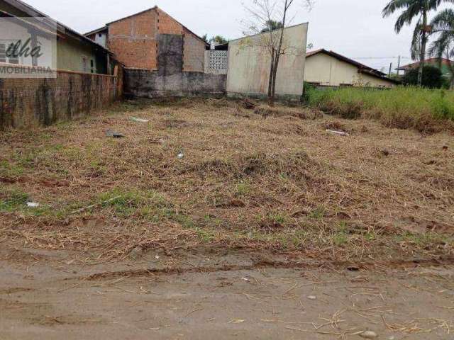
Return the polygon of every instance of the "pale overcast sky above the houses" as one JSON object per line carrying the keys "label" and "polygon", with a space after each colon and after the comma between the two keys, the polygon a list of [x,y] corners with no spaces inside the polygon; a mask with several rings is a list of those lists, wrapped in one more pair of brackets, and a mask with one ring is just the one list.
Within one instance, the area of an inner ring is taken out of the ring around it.
{"label": "pale overcast sky above the houses", "polygon": [[[245,11],[242,3],[252,0],[24,0],[80,33],[104,26],[118,18],[159,6],[178,21],[204,35],[242,36]],[[302,0],[296,0],[301,4]],[[410,62],[411,28],[394,33],[395,18],[383,19],[382,8],[389,0],[316,0],[313,11],[294,7],[293,23],[309,21],[309,42],[377,69],[389,68],[397,57]],[[370,58],[370,59],[367,59]],[[374,58],[374,59],[372,59]]]}

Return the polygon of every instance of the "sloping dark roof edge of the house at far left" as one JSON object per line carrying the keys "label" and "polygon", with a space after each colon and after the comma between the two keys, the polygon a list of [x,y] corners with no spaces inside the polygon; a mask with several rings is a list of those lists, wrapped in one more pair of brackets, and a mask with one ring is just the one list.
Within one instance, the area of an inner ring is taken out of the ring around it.
{"label": "sloping dark roof edge of the house at far left", "polygon": [[55,24],[57,25],[57,31],[60,33],[63,33],[65,35],[70,35],[72,38],[76,38],[77,40],[82,40],[84,42],[89,43],[90,45],[96,47],[99,50],[103,50],[105,52],[108,52],[111,54],[109,50],[106,49],[106,47],[99,45],[98,43],[94,42],[93,40],[85,37],[84,35],[77,33],[75,30],[72,28],[69,28],[68,26],[65,26],[64,24],[50,18],[50,16],[47,16],[45,13],[38,11],[38,9],[30,6],[29,4],[26,4],[25,2],[21,0],[4,0],[7,4],[17,8],[19,11],[22,11],[23,13],[26,13],[28,16],[32,16],[34,18],[40,18],[40,23],[42,23],[44,26],[48,27],[55,27]]}

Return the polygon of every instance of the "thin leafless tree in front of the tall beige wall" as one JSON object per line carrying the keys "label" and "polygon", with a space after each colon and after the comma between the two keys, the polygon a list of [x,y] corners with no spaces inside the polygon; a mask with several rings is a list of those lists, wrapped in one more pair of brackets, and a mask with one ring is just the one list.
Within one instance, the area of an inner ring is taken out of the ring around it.
{"label": "thin leafless tree in front of the tall beige wall", "polygon": [[[268,102],[275,104],[276,78],[279,61],[282,55],[292,50],[284,44],[284,29],[292,21],[290,11],[299,3],[306,10],[311,10],[314,0],[250,0],[243,6],[250,16],[246,24],[246,35],[262,34],[255,44],[263,47],[270,54],[270,80],[268,83]],[[270,23],[275,23],[277,29],[270,29]]]}

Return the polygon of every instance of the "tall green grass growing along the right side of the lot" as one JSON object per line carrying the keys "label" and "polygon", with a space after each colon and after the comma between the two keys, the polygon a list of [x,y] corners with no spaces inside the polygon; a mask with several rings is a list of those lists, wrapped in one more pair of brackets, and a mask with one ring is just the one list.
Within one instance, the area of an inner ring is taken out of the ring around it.
{"label": "tall green grass growing along the right side of the lot", "polygon": [[342,118],[380,120],[392,128],[438,132],[454,127],[454,91],[395,89],[306,89],[310,106]]}

